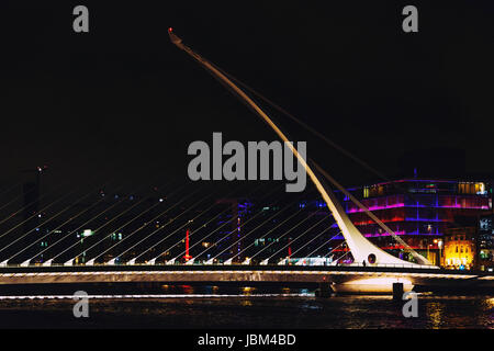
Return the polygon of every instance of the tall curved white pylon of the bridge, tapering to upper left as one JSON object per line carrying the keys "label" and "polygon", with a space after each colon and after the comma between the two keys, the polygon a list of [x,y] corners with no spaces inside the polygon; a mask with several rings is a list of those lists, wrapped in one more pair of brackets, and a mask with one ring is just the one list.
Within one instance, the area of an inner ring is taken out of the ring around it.
{"label": "tall curved white pylon of the bridge, tapering to upper left", "polygon": [[168,30],[168,34],[170,36],[171,43],[173,43],[177,47],[184,50],[188,55],[194,58],[200,65],[211,71],[215,77],[217,77],[221,81],[226,83],[226,86],[236,94],[239,99],[245,101],[255,112],[259,115],[276,133],[277,135],[285,143],[285,145],[290,148],[293,155],[296,157],[300,165],[305,169],[311,181],[316,186],[319,194],[323,196],[323,200],[326,202],[329,211],[336,219],[336,223],[341,230],[343,236],[348,245],[348,248],[353,256],[353,261],[356,263],[368,263],[368,264],[401,264],[408,267],[422,267],[420,264],[415,264],[408,261],[401,260],[384,250],[380,249],[371,241],[369,241],[357,227],[351,223],[350,218],[346,214],[343,206],[338,203],[335,194],[329,190],[325,189],[318,178],[315,176],[314,171],[307,165],[305,159],[299,154],[299,151],[294,148],[293,143],[290,143],[287,136],[281,132],[281,129],[271,121],[271,118],[235,83],[233,83],[225,75],[223,75],[214,65],[204,59],[202,56],[193,52],[189,46],[182,43],[182,39],[179,38],[171,29]]}

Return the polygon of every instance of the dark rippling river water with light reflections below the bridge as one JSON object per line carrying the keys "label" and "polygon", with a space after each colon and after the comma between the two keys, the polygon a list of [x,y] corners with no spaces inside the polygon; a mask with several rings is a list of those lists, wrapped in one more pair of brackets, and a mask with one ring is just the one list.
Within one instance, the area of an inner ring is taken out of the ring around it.
{"label": "dark rippling river water with light reflections below the bridge", "polygon": [[[90,294],[75,318],[70,295],[0,297],[1,328],[482,328],[494,329],[493,296],[418,296],[405,318],[391,296],[315,297],[305,288],[167,286],[159,295]],[[156,293],[156,292],[155,292]]]}

